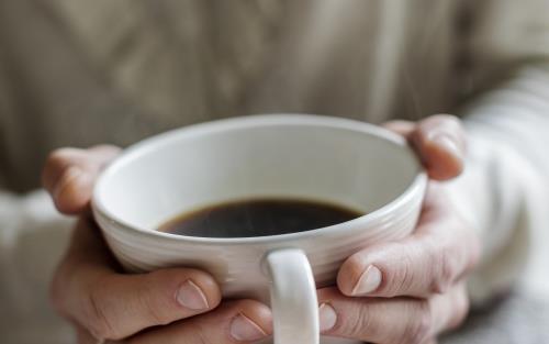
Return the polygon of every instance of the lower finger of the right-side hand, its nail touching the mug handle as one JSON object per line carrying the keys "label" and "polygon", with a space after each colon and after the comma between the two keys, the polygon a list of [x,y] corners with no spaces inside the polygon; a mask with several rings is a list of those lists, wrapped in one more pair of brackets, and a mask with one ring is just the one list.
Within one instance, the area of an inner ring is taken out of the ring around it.
{"label": "lower finger of the right-side hand, its nail touching the mug handle", "polygon": [[321,332],[373,343],[429,343],[459,324],[469,304],[462,285],[429,300],[343,296],[336,288],[318,290]]}

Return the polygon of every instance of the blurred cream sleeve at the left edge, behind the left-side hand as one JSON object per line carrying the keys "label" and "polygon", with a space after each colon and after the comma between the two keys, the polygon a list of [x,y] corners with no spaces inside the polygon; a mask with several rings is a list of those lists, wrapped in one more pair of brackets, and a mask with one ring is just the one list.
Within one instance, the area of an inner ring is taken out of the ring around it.
{"label": "blurred cream sleeve at the left edge, behind the left-side hand", "polygon": [[19,196],[0,189],[2,343],[70,342],[70,329],[49,306],[48,285],[71,224],[43,190]]}

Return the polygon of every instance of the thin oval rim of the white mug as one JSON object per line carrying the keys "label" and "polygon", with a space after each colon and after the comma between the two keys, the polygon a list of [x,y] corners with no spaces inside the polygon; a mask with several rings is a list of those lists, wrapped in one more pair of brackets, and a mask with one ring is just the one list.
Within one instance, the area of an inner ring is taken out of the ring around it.
{"label": "thin oval rim of the white mug", "polygon": [[[168,144],[170,141],[179,138],[181,135],[193,136],[201,135],[205,133],[214,133],[219,131],[226,131],[232,129],[243,129],[243,127],[254,127],[262,126],[269,124],[292,124],[292,125],[320,125],[327,127],[338,127],[344,130],[350,130],[355,132],[363,132],[377,137],[381,137],[385,141],[392,142],[393,144],[401,146],[406,151],[407,154],[413,155],[413,160],[416,162],[417,173],[413,178],[412,182],[405,188],[405,190],[400,193],[393,200],[386,202],[380,208],[366,213],[359,218],[336,223],[329,226],[324,226],[320,229],[314,229],[303,232],[293,232],[285,234],[276,235],[265,235],[265,236],[243,236],[243,237],[206,237],[206,236],[190,236],[171,234],[167,232],[155,231],[150,229],[143,228],[141,225],[131,224],[117,217],[115,213],[110,211],[104,202],[104,196],[101,197],[99,190],[101,185],[105,180],[116,173],[116,169],[123,167],[130,162],[139,158],[143,154],[156,149],[156,145]],[[214,120],[210,122],[202,122],[198,124],[192,124],[183,127],[177,127],[169,130],[167,132],[153,135],[148,138],[139,141],[130,147],[125,148],[122,154],[116,157],[107,168],[100,174],[94,187],[91,198],[91,208],[96,218],[103,218],[110,223],[117,224],[119,229],[125,232],[132,232],[134,234],[139,233],[142,235],[150,236],[152,238],[169,238],[170,241],[183,241],[197,244],[223,244],[223,245],[235,245],[235,244],[258,244],[266,242],[281,242],[281,241],[294,241],[309,238],[311,236],[323,235],[328,232],[333,232],[335,228],[338,230],[344,230],[345,228],[354,228],[357,222],[370,222],[378,218],[383,218],[386,213],[399,209],[406,204],[411,198],[413,198],[416,192],[423,192],[427,185],[427,174],[422,168],[417,157],[415,156],[412,148],[406,143],[406,140],[396,133],[390,132],[389,130],[369,124],[366,122],[359,122],[356,120],[349,120],[345,118],[335,118],[328,115],[316,115],[316,114],[304,114],[304,113],[272,113],[272,114],[251,114],[245,116],[237,116],[224,120]],[[107,232],[111,229],[103,228],[99,224],[102,231]]]}

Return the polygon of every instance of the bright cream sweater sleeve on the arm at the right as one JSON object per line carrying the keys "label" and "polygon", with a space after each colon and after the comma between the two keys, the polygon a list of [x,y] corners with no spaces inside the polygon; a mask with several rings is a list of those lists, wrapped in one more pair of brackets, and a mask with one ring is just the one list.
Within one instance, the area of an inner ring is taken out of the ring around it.
{"label": "bright cream sweater sleeve on the arm at the right", "polygon": [[547,296],[549,63],[518,69],[463,112],[468,166],[448,188],[484,244],[472,299],[482,302],[513,284]]}

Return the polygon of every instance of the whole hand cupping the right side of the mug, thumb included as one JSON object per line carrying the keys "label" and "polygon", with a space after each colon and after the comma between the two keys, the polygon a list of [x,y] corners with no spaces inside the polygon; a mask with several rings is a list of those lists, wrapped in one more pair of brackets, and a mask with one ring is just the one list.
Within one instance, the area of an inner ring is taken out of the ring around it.
{"label": "whole hand cupping the right side of the mug, thumb included", "polygon": [[437,181],[461,174],[464,133],[450,115],[385,126],[408,138],[432,179],[419,222],[404,240],[350,256],[339,269],[337,288],[318,290],[321,331],[373,343],[430,344],[467,315],[463,280],[480,256],[473,229]]}

